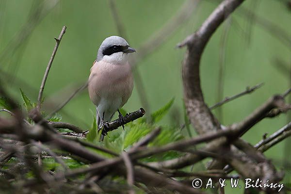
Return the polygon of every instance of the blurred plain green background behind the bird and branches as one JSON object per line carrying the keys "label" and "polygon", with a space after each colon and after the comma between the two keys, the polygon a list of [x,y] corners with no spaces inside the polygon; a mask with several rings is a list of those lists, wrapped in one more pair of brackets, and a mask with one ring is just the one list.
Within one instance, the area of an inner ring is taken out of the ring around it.
{"label": "blurred plain green background behind the bird and branches", "polygon": [[[55,2],[55,0],[45,1],[46,6]],[[129,45],[135,49],[139,48],[176,14],[183,2],[117,0],[116,7],[124,24]],[[288,10],[284,2],[246,0],[242,7],[273,22],[290,35],[291,10]],[[19,87],[21,87],[33,101],[36,101],[40,83],[55,45],[53,38],[59,35],[62,26],[65,25],[67,30],[49,72],[44,92],[45,100],[49,103],[44,104],[43,110],[49,113],[87,80],[100,43],[110,35],[117,35],[117,30],[108,1],[60,0],[35,27],[28,27],[28,38],[20,41],[21,44],[17,45],[16,49],[11,49],[14,48],[13,44],[17,43],[13,40],[19,37],[18,32],[22,32],[23,26],[35,19],[33,16],[30,17],[30,14],[41,6],[41,3],[41,0],[0,0],[0,69],[11,75],[5,77],[0,74],[0,76],[15,98],[20,100]],[[162,120],[162,124],[177,124],[175,123],[177,118],[179,124],[183,122],[181,62],[185,49],[176,49],[175,46],[197,30],[217,5],[216,0],[200,2],[189,20],[180,25],[178,31],[173,32],[161,47],[138,64],[150,110],[157,110],[175,97],[175,105],[171,113]],[[217,97],[217,82],[220,53],[223,49],[222,37],[227,25],[230,26],[226,36],[223,96],[232,96],[242,92],[246,86],[261,82],[264,82],[264,86],[251,95],[224,105],[222,115],[219,115],[224,125],[241,121],[269,97],[287,90],[291,82],[290,72],[286,70],[282,72],[275,63],[275,59],[278,58],[290,67],[291,42],[281,40],[278,38],[281,37],[278,32],[272,34],[260,26],[256,19],[240,13],[245,13],[245,10],[235,11],[229,23],[224,23],[211,37],[203,53],[201,79],[205,101],[213,105],[221,100]],[[24,36],[24,33],[20,33],[20,37]],[[142,107],[136,87],[137,85],[124,107],[129,112]],[[95,111],[95,107],[85,90],[72,99],[60,113],[63,115],[63,121],[86,129],[92,122],[90,110]],[[217,114],[217,111],[214,113]],[[243,139],[256,144],[265,132],[271,134],[287,123],[286,115],[264,119],[248,131]],[[283,158],[290,161],[284,149],[284,143],[280,143],[266,152],[266,156],[273,159],[278,168],[282,167]],[[285,172],[287,177],[290,176],[289,169],[285,169]],[[227,193],[232,192],[237,193],[232,189]]]}

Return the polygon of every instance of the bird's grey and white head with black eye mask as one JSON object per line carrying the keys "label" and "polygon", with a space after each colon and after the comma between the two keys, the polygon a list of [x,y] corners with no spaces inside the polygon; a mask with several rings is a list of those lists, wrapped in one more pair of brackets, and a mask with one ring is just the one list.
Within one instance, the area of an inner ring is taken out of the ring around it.
{"label": "bird's grey and white head with black eye mask", "polygon": [[128,53],[135,52],[128,42],[120,36],[110,36],[103,40],[98,49],[97,61],[122,64],[128,60]]}

